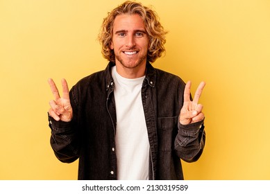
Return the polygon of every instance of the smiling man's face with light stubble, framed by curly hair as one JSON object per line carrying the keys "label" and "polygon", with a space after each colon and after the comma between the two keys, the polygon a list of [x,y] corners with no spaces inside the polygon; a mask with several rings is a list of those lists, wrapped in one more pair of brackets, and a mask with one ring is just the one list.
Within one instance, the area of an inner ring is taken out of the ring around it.
{"label": "smiling man's face with light stubble, framed by curly hair", "polygon": [[149,37],[140,15],[117,15],[112,30],[110,48],[115,63],[121,69],[145,69]]}

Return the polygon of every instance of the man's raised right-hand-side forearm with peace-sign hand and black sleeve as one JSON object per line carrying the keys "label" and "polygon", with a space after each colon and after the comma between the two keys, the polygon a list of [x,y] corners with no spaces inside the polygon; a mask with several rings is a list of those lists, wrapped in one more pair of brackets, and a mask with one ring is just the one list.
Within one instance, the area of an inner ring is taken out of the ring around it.
{"label": "man's raised right-hand-side forearm with peace-sign hand and black sleeve", "polygon": [[184,103],[180,110],[174,148],[178,156],[187,162],[198,160],[205,145],[203,105],[198,104],[204,86],[205,82],[201,82],[194,95],[194,100],[191,100],[191,82],[187,82],[185,85]]}

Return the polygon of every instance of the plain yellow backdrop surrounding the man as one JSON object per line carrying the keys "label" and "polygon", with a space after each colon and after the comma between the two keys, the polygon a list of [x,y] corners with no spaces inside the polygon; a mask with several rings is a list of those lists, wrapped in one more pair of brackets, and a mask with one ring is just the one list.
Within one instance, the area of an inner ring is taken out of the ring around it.
{"label": "plain yellow backdrop surrounding the man", "polygon": [[[107,12],[123,1],[0,0],[0,179],[77,179],[49,145],[60,87],[106,67],[96,40]],[[185,179],[270,179],[270,1],[142,0],[158,12],[167,53],[154,66],[207,83],[206,145]],[[61,87],[60,87],[61,89]]]}

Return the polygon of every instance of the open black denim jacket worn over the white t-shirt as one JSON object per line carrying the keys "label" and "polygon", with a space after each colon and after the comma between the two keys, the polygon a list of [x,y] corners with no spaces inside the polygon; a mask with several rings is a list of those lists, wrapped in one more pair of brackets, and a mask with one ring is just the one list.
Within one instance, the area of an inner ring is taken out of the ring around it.
{"label": "open black denim jacket worn over the white t-shirt", "polygon": [[[117,179],[114,80],[112,62],[104,71],[80,80],[69,92],[73,118],[49,116],[51,147],[66,163],[79,158],[78,179]],[[185,83],[148,62],[142,105],[150,143],[149,179],[183,179],[180,159],[196,161],[205,144],[203,121],[181,125]]]}

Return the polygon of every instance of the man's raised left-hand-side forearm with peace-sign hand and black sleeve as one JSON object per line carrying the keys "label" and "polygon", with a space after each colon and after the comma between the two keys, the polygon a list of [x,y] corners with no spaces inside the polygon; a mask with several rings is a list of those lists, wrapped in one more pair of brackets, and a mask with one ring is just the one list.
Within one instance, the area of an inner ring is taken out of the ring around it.
{"label": "man's raised left-hand-side forearm with peace-sign hand and black sleeve", "polygon": [[49,79],[49,85],[55,100],[50,101],[49,127],[51,128],[51,148],[56,157],[66,163],[78,159],[78,139],[74,130],[75,118],[69,98],[69,89],[66,80],[62,80],[62,98],[58,89]]}

